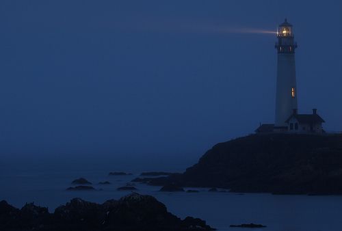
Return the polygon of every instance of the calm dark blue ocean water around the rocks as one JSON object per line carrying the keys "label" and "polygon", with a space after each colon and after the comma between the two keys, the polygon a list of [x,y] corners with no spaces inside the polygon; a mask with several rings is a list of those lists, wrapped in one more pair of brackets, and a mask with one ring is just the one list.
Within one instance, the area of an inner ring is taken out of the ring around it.
{"label": "calm dark blue ocean water around the rocks", "polygon": [[[49,207],[50,212],[72,198],[82,198],[102,203],[119,199],[129,191],[117,191],[139,176],[108,176],[107,170],[65,169],[18,169],[1,171],[0,200],[21,208],[25,202],[34,202]],[[111,169],[115,171],[115,169]],[[101,191],[66,191],[70,182],[84,177]],[[108,180],[111,185],[98,185]],[[199,193],[159,192],[160,187],[135,183],[138,193],[153,195],[166,204],[174,215],[205,219],[218,230],[239,230],[229,228],[231,224],[261,223],[267,228],[253,230],[267,231],[341,231],[342,196],[272,195],[267,193],[211,193],[208,189],[197,189]],[[185,188],[190,189],[190,188]],[[194,189],[194,188],[191,188]],[[249,229],[246,229],[249,230]]]}

